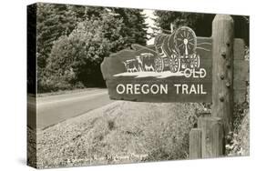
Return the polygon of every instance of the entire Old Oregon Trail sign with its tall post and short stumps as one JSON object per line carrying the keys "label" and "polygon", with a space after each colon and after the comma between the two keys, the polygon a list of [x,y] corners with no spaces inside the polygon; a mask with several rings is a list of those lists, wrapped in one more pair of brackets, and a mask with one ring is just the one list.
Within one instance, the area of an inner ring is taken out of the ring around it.
{"label": "entire Old Oregon Trail sign with its tall post and short stumps", "polygon": [[224,154],[232,129],[232,107],[245,101],[249,62],[243,40],[234,38],[230,15],[216,15],[211,37],[182,26],[159,34],[154,45],[132,45],[106,57],[101,71],[111,99],[137,102],[212,102],[189,134],[189,157]]}

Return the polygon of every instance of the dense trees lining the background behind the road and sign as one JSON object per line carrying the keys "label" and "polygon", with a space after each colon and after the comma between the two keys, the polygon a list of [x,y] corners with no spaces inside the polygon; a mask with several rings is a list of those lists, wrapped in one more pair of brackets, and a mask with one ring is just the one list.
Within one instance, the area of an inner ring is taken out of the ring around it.
{"label": "dense trees lining the background behind the road and sign", "polygon": [[[38,93],[105,86],[100,72],[103,58],[148,40],[146,15],[140,9],[38,3],[34,10]],[[28,15],[34,14],[28,11]],[[188,25],[199,36],[211,35],[214,15],[169,11],[154,15],[162,31],[168,31],[170,24]],[[249,45],[249,17],[232,17],[236,37]],[[29,29],[28,34],[33,36]]]}

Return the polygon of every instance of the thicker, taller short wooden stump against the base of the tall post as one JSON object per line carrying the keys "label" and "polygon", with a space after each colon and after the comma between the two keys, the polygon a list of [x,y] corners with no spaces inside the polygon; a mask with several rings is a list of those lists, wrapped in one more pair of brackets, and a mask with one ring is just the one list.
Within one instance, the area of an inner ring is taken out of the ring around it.
{"label": "thicker, taller short wooden stump against the base of the tall post", "polygon": [[200,117],[198,126],[202,130],[202,158],[223,156],[224,133],[220,117]]}

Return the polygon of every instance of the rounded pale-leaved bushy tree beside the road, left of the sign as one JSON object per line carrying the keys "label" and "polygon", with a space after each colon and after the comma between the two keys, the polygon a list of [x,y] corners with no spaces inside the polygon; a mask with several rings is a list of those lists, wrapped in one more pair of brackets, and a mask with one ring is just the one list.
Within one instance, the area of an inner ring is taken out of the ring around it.
{"label": "rounded pale-leaved bushy tree beside the road, left of the sign", "polygon": [[100,19],[87,19],[70,35],[56,40],[47,59],[44,86],[56,90],[104,85],[99,66],[110,49],[123,42],[121,27],[117,26],[121,23],[113,15],[101,14]]}

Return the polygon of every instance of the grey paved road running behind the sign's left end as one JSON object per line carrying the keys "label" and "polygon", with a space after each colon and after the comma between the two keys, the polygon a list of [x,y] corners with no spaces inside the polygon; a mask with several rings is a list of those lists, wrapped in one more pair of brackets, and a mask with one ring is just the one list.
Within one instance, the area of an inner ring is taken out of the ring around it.
{"label": "grey paved road running behind the sign's left end", "polygon": [[[33,128],[43,129],[112,102],[108,98],[107,89],[93,89],[79,93],[38,97],[36,115],[36,101],[34,97],[30,96],[28,97],[27,110],[29,117],[27,123],[28,126]],[[35,116],[37,126],[36,123],[33,124],[31,122],[31,120],[35,119]]]}

